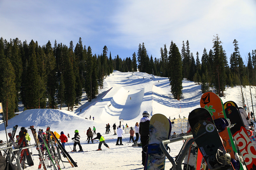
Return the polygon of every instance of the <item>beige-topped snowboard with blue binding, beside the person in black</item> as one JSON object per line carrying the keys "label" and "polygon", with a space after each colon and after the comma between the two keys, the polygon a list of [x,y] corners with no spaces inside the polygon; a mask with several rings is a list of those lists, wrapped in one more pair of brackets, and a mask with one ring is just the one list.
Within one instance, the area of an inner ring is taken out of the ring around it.
{"label": "beige-topped snowboard with blue binding, beside the person in black", "polygon": [[[144,170],[164,170],[165,154],[157,138],[169,139],[172,130],[171,121],[162,114],[155,114],[149,122],[148,151]],[[165,146],[167,147],[167,145]]]}

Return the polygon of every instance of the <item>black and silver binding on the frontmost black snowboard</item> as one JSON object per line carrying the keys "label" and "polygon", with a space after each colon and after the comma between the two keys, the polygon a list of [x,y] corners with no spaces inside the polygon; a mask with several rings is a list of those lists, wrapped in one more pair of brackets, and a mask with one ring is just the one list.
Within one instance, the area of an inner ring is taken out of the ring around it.
{"label": "black and silver binding on the frontmost black snowboard", "polygon": [[218,149],[217,153],[210,155],[206,162],[209,169],[220,169],[231,166],[231,157],[225,150]]}

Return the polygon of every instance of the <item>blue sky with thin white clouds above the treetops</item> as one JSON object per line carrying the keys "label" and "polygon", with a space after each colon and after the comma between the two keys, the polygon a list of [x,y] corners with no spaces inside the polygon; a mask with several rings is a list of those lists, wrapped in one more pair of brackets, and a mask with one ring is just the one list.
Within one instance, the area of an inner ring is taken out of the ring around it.
{"label": "blue sky with thin white clouds above the treetops", "polygon": [[[108,47],[108,56],[132,57],[144,42],[148,55],[160,57],[160,48],[171,41],[181,49],[189,41],[194,56],[212,48],[218,34],[229,56],[233,41],[242,57],[256,49],[255,0],[81,0],[0,1],[0,37],[18,37],[44,45],[50,40],[74,45],[82,38],[93,54]],[[228,60],[229,61],[229,60]]]}

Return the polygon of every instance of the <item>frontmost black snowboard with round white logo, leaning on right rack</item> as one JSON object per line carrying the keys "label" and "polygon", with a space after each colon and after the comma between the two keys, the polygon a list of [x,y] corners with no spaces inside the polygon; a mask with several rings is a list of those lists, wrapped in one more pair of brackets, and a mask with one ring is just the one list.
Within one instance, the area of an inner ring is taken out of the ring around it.
{"label": "frontmost black snowboard with round white logo, leaning on right rack", "polygon": [[210,170],[234,169],[230,154],[226,152],[214,124],[208,121],[198,121],[192,129],[192,134]]}

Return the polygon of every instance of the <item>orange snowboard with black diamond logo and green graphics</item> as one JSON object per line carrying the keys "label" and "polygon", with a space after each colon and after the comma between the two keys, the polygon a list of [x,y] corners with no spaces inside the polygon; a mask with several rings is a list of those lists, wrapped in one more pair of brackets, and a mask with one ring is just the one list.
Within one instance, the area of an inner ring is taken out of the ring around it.
{"label": "orange snowboard with black diamond logo and green graphics", "polygon": [[[204,107],[210,112],[213,120],[218,118],[227,118],[222,100],[217,94],[213,92],[206,92],[202,95],[200,100],[200,106]],[[237,160],[235,157],[235,152],[237,153],[237,150],[230,129],[225,128],[223,131],[219,132],[219,134],[222,138],[223,145],[226,151],[230,154],[232,159]],[[241,168],[242,165],[240,163],[240,169]]]}

